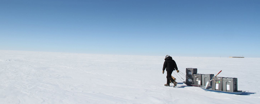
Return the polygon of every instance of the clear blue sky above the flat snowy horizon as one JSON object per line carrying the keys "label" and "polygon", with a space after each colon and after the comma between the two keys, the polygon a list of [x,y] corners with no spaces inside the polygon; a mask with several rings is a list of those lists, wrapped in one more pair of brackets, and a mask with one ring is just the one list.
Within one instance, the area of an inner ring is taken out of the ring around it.
{"label": "clear blue sky above the flat snowy horizon", "polygon": [[260,57],[259,0],[1,0],[0,50]]}

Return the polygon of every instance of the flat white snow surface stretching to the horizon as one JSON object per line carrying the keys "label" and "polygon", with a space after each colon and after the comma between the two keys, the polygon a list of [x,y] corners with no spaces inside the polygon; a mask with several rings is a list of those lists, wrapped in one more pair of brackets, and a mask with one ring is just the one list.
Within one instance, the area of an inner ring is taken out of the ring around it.
{"label": "flat white snow surface stretching to the horizon", "polygon": [[[170,53],[169,53],[170,54]],[[172,57],[181,72],[238,78],[245,95],[164,86],[164,56],[0,50],[0,103],[257,103],[260,58]],[[176,76],[172,74],[172,76]],[[183,78],[185,79],[185,78]],[[171,84],[172,85],[172,84]]]}

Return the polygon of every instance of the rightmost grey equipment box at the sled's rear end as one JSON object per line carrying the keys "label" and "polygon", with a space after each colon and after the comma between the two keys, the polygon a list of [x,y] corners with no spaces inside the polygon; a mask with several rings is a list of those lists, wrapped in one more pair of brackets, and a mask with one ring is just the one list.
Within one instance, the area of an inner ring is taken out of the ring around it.
{"label": "rightmost grey equipment box at the sled's rear end", "polygon": [[225,77],[222,79],[223,91],[237,92],[237,78]]}

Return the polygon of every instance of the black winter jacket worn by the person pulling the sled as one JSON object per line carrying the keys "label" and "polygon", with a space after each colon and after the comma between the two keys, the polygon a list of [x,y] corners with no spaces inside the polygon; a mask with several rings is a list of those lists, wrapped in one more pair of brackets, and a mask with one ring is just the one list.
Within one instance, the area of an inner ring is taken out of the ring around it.
{"label": "black winter jacket worn by the person pulling the sled", "polygon": [[177,64],[174,60],[172,60],[171,57],[167,57],[164,59],[164,64],[163,64],[163,71],[166,68],[166,71],[174,71],[174,70],[178,70]]}

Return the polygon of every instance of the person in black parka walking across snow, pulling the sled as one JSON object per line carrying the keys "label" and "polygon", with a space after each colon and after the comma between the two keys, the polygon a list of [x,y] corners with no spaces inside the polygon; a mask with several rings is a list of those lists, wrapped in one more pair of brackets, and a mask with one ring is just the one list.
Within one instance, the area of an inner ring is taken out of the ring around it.
{"label": "person in black parka walking across snow, pulling the sled", "polygon": [[177,73],[179,73],[179,70],[178,70],[178,67],[177,67],[177,64],[174,60],[172,60],[172,57],[170,57],[169,55],[166,55],[165,56],[165,59],[164,59],[164,64],[163,64],[163,74],[164,74],[164,70],[166,68],[166,71],[167,71],[167,83],[164,84],[165,86],[170,86],[170,81],[174,83],[174,87],[177,85],[177,82],[171,77],[171,73],[173,71],[177,71]]}

